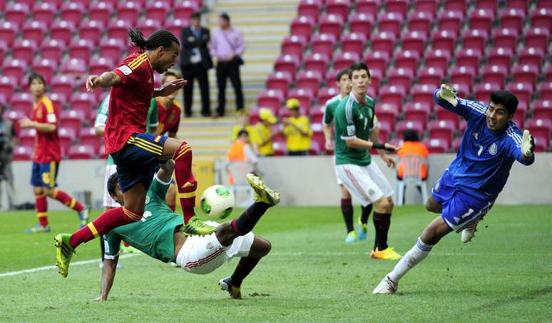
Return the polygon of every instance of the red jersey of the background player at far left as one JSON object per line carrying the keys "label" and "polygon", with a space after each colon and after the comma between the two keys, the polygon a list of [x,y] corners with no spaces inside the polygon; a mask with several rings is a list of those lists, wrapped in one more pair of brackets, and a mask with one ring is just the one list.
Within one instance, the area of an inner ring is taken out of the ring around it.
{"label": "red jersey of the background player at far left", "polygon": [[39,103],[36,103],[31,112],[31,120],[39,123],[51,123],[56,125],[56,130],[53,133],[43,133],[36,131],[34,138],[34,155],[35,163],[50,163],[61,160],[61,148],[59,146],[58,137],[58,117],[59,111],[53,107],[52,101],[47,96],[42,96]]}

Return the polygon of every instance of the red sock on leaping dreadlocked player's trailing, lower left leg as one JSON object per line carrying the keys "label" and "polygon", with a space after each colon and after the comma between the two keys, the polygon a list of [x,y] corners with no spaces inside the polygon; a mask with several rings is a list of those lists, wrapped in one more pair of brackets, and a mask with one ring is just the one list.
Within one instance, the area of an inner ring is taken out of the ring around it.
{"label": "red sock on leaping dreadlocked player's trailing, lower left leg", "polygon": [[126,207],[113,207],[103,212],[96,220],[71,235],[71,247],[76,248],[83,242],[105,235],[121,225],[128,225],[142,218],[143,212],[128,210]]}

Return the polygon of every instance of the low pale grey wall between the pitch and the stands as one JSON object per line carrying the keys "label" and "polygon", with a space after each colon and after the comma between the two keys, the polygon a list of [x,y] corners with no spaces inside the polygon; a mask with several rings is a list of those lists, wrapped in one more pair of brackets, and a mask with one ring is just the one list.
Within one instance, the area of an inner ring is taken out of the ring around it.
{"label": "low pale grey wall between the pitch and the stands", "polygon": [[[428,190],[431,190],[431,184],[439,178],[454,157],[454,154],[429,156]],[[379,157],[374,160],[394,185],[393,171]],[[16,202],[34,202],[29,185],[31,163],[14,162],[13,168]],[[339,202],[340,194],[331,156],[261,158],[259,168],[266,182],[282,193],[282,205],[337,205]],[[63,160],[58,183],[60,188],[78,198],[82,197],[84,190],[90,190],[93,205],[97,207],[101,205],[103,198],[104,172],[104,160]],[[417,190],[409,188],[407,204],[420,203],[421,197]],[[552,204],[552,153],[538,153],[535,164],[528,168],[514,163],[508,183],[496,203]],[[55,201],[51,201],[49,207],[51,210],[64,208]]]}

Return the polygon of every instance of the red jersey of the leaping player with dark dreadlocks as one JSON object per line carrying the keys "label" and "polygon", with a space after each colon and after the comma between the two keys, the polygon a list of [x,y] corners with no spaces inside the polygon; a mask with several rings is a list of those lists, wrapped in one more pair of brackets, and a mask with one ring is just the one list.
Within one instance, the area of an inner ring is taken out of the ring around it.
{"label": "red jersey of the leaping player with dark dreadlocks", "polygon": [[145,53],[133,53],[113,70],[121,83],[111,87],[106,131],[106,153],[123,148],[133,133],[145,133],[153,96],[153,69]]}

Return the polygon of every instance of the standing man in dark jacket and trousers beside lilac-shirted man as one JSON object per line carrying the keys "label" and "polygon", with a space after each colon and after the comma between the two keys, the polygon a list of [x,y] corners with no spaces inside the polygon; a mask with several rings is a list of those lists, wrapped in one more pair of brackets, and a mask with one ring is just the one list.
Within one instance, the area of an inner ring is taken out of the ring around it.
{"label": "standing man in dark jacket and trousers beside lilac-shirted man", "polygon": [[190,18],[190,26],[182,30],[182,52],[180,53],[180,68],[183,78],[188,80],[184,86],[184,113],[192,116],[193,80],[198,78],[201,91],[201,115],[210,116],[209,78],[207,71],[213,67],[209,54],[209,29],[200,26],[201,15],[196,12]]}

